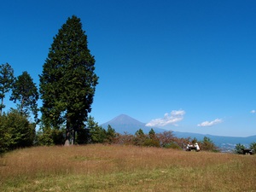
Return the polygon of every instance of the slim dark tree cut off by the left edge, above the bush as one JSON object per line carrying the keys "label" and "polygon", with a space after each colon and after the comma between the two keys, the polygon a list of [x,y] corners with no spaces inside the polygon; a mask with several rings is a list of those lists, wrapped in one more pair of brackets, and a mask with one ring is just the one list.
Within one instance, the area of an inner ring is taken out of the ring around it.
{"label": "slim dark tree cut off by the left edge, above the bush", "polygon": [[12,88],[14,80],[14,69],[8,63],[0,65],[0,115],[2,115],[3,108],[5,108],[3,99]]}

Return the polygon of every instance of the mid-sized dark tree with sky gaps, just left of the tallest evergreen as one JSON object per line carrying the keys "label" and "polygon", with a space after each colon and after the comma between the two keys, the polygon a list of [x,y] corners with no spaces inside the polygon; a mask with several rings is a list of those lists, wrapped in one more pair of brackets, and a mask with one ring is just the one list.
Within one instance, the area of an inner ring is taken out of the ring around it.
{"label": "mid-sized dark tree with sky gaps, just left of the tallest evergreen", "polygon": [[19,102],[18,109],[20,113],[26,116],[32,113],[35,121],[38,121],[38,88],[27,72],[23,72],[15,79],[10,100]]}

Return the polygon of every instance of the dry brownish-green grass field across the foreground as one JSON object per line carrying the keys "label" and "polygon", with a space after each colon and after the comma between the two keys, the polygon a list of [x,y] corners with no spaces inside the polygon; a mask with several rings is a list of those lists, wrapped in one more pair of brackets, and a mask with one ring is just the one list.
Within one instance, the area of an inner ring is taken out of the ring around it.
{"label": "dry brownish-green grass field across the foreground", "polygon": [[0,191],[256,191],[256,155],[119,145],[25,148],[0,158]]}

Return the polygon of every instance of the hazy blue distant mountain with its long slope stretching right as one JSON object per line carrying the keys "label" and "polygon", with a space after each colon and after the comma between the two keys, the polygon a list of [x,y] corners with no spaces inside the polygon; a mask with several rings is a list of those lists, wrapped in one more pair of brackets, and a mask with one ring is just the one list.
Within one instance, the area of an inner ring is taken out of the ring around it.
{"label": "hazy blue distant mountain with its long slope stretching right", "polygon": [[[135,134],[136,131],[142,129],[144,133],[148,133],[151,128],[154,129],[156,133],[164,132],[165,129],[160,129],[156,127],[148,127],[145,123],[138,121],[137,119],[133,119],[126,114],[120,114],[114,119],[102,124],[102,127],[107,129],[108,125],[111,125],[116,132],[120,134],[124,134],[125,132],[128,134]],[[224,137],[224,136],[212,136],[212,135],[204,135],[198,133],[190,133],[190,132],[179,132],[173,131],[173,134],[176,137],[191,137],[196,138],[201,141],[204,137],[209,137],[213,143],[215,143],[219,148],[235,148],[236,144],[241,143],[245,146],[248,146],[250,143],[256,143],[256,136],[251,137]]]}

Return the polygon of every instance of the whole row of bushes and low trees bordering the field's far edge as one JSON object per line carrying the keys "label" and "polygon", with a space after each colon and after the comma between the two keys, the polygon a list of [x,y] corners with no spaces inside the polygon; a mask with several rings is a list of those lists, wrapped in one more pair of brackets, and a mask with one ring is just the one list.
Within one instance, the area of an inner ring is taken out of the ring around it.
{"label": "whole row of bushes and low trees bordering the field's far edge", "polygon": [[[0,132],[0,153],[15,148],[63,145],[66,137],[64,127],[62,129],[47,129],[44,126],[36,132],[36,124],[31,123],[26,115],[20,113],[17,109],[12,109],[9,113],[3,113],[0,117]],[[177,149],[185,148],[187,143],[199,143],[201,150],[218,151],[218,148],[208,137],[198,141],[190,137],[175,137],[172,131],[155,133],[153,129],[148,133],[139,129],[135,135],[119,134],[111,125],[108,125],[108,129],[105,130],[95,122],[94,118],[89,117],[83,131],[76,135],[74,144],[93,143]]]}

